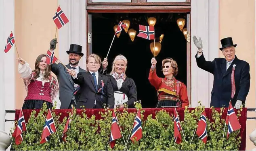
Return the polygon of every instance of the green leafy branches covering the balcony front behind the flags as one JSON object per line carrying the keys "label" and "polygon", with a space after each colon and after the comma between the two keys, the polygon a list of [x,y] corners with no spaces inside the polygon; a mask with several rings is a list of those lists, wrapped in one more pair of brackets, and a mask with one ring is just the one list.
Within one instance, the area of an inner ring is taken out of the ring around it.
{"label": "green leafy branches covering the balcony front behind the flags", "polygon": [[[141,108],[141,104],[136,104],[136,108]],[[174,122],[173,116],[170,116],[165,110],[156,113],[155,118],[149,115],[147,119],[143,119],[143,138],[134,144],[128,141],[127,147],[129,150],[238,150],[241,143],[241,137],[237,136],[239,131],[231,133],[229,139],[226,137],[222,139],[225,120],[221,119],[224,108],[217,112],[212,108],[212,119],[214,122],[210,123],[207,119],[207,143],[204,144],[195,134],[191,145],[189,145],[193,132],[197,127],[197,121],[201,115],[203,106],[198,106],[195,110],[185,109],[184,121],[181,121],[181,126],[186,138],[184,141],[182,135],[182,143],[176,144],[174,142]],[[242,109],[240,109],[242,110]],[[141,110],[143,113],[144,110]],[[74,109],[76,113],[76,109]],[[240,112],[238,111],[238,115]],[[86,110],[82,110],[82,116],[76,115],[71,117],[71,128],[67,131],[67,141],[61,141],[57,138],[57,133],[50,136],[50,141],[40,144],[43,126],[46,119],[47,108],[46,105],[35,116],[36,111],[31,112],[29,121],[27,122],[28,132],[23,132],[23,142],[20,145],[12,144],[15,150],[113,150],[109,145],[109,136],[111,129],[112,111],[105,109],[104,112],[99,112],[104,119],[95,120],[93,115],[91,118],[86,116]],[[134,122],[136,112],[128,113],[126,109],[124,112],[116,112],[124,138],[127,140],[130,130]],[[57,131],[61,139],[67,117],[63,122],[58,122],[60,115],[55,115],[52,112],[55,120]],[[17,122],[17,121],[16,121]],[[13,129],[11,130],[11,132]],[[226,131],[227,132],[227,127]],[[24,134],[25,133],[25,134]],[[226,135],[225,135],[226,136]],[[29,139],[31,144],[29,143]],[[13,138],[14,142],[14,138]],[[123,139],[116,141],[114,150],[125,150]]]}

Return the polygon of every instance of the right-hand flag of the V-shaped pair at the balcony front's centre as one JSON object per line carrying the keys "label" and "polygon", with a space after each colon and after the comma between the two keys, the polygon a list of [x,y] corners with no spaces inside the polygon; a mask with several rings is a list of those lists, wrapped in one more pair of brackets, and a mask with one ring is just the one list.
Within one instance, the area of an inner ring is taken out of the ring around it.
{"label": "right-hand flag of the V-shaped pair at the balcony front's centre", "polygon": [[133,123],[132,135],[130,140],[133,141],[133,138],[136,137],[136,141],[142,138],[142,127],[141,127],[141,110],[138,109],[138,113]]}

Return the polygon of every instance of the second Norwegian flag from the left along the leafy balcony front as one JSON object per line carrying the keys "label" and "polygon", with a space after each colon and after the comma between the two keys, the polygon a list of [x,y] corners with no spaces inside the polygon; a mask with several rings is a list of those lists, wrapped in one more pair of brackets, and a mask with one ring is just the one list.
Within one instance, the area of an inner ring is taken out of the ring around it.
{"label": "second Norwegian flag from the left along the leafy balcony front", "polygon": [[55,132],[56,132],[56,127],[55,127],[55,124],[54,124],[54,120],[52,118],[52,114],[51,114],[50,109],[49,109],[46,120],[45,120],[44,129],[43,129],[40,144],[49,141],[50,135],[52,135]]}

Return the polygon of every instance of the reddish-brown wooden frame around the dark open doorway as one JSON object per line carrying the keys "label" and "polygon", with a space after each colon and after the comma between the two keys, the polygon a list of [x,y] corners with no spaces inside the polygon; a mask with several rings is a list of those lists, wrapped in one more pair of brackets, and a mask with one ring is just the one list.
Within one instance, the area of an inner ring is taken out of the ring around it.
{"label": "reddish-brown wooden frame around the dark open doorway", "polygon": [[[91,1],[91,0],[88,0]],[[138,0],[138,1],[144,1],[144,0]],[[132,0],[134,2],[134,0]],[[152,3],[150,3],[152,5]],[[90,5],[87,3],[86,6],[86,35],[88,35],[88,32],[91,32],[91,17],[90,13],[187,13],[190,14],[191,12],[191,3],[190,0],[187,0],[186,4],[183,3],[177,3],[177,2],[162,2],[162,3],[154,3],[154,6],[151,6],[150,4],[120,4],[117,6],[116,4],[106,4],[106,3],[97,3],[94,5]],[[162,6],[160,4],[164,4],[166,6]],[[168,6],[167,6],[168,4]],[[180,5],[174,5],[174,4],[180,4]],[[189,27],[187,27],[187,30],[189,32],[189,39],[191,39],[191,17],[189,15],[189,20],[187,21],[189,23]],[[90,31],[89,31],[90,30]],[[87,41],[87,56],[91,52],[91,44],[88,44]],[[187,90],[188,90],[188,98],[189,103],[191,106],[191,43],[187,41]]]}

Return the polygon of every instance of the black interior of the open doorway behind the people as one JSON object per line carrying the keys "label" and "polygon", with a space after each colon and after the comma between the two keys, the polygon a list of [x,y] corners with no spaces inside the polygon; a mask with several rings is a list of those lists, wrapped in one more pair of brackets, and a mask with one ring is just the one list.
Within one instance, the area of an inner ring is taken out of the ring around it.
{"label": "black interior of the open doorway behind the people", "polygon": [[[113,27],[120,21],[130,20],[129,29],[136,30],[136,35],[138,35],[138,25],[148,26],[147,18],[149,17],[157,19],[155,41],[158,42],[159,36],[164,34],[161,51],[156,57],[157,76],[164,77],[161,71],[162,60],[172,57],[178,64],[176,79],[187,85],[187,41],[176,22],[178,18],[186,20],[187,14],[185,13],[93,13],[92,53],[98,54],[101,59],[107,56],[115,34]],[[153,40],[141,37],[135,37],[132,42],[128,33],[123,30],[119,38],[115,37],[108,56],[108,72],[111,71],[112,62],[116,55],[122,54],[127,58],[126,75],[134,80],[137,87],[138,100],[141,100],[143,108],[154,108],[157,104],[157,91],[148,80],[151,58],[153,57],[149,45],[152,42]]]}

